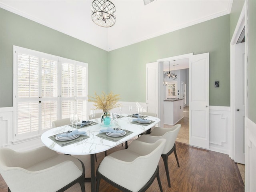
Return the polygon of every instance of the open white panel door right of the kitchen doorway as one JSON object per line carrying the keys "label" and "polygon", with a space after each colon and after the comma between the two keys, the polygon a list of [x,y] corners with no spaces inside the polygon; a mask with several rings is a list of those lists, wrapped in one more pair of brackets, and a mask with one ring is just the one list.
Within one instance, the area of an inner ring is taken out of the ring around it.
{"label": "open white panel door right of the kitchen doorway", "polygon": [[209,149],[209,53],[191,56],[189,68],[189,142]]}

